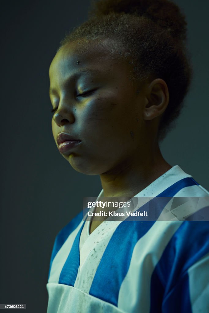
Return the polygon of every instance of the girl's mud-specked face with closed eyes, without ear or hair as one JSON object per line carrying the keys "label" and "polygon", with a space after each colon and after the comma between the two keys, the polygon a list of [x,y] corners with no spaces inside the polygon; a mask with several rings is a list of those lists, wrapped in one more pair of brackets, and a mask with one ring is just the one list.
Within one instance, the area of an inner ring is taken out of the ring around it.
{"label": "girl's mud-specked face with closed eyes, without ear or hair", "polygon": [[71,166],[89,175],[113,173],[139,158],[145,137],[143,86],[129,80],[130,66],[104,48],[82,53],[62,47],[50,65],[52,131],[80,142],[60,150]]}

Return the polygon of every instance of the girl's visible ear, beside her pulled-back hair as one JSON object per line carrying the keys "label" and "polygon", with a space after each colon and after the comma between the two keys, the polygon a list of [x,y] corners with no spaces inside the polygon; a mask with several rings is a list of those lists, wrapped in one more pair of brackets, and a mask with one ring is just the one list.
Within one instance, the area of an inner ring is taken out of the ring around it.
{"label": "girl's visible ear, beside her pulled-back hair", "polygon": [[169,103],[169,91],[166,82],[160,78],[153,80],[146,90],[147,103],[144,106],[144,120],[152,120],[163,114]]}

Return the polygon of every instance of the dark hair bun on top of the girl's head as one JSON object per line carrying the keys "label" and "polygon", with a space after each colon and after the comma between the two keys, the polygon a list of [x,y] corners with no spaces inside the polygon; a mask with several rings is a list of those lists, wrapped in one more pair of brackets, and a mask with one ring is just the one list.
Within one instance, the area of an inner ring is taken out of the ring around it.
{"label": "dark hair bun on top of the girl's head", "polygon": [[178,39],[186,39],[185,15],[175,3],[168,0],[99,0],[93,1],[90,16],[126,13],[144,16]]}

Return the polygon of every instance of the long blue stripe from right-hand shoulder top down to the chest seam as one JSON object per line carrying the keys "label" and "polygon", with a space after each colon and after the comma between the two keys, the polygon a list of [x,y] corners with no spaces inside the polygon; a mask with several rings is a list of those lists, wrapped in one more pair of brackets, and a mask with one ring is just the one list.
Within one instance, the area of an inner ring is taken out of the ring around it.
{"label": "long blue stripe from right-hand shoulder top down to the chest seam", "polygon": [[[192,178],[183,178],[160,193],[158,197],[168,197],[165,199],[165,205],[170,200],[169,197],[175,196],[182,188],[195,184],[197,183]],[[149,206],[145,204],[141,210],[144,210],[146,205]],[[120,286],[128,272],[134,246],[154,223],[155,221],[125,220],[118,225],[102,256],[92,281],[90,295],[117,306]]]}

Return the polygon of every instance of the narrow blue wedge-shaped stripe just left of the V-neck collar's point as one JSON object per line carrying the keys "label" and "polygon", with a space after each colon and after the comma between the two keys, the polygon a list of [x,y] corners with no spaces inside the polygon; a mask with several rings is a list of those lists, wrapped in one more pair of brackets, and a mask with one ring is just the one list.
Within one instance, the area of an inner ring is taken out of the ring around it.
{"label": "narrow blue wedge-shaped stripe just left of the V-neck collar's point", "polygon": [[83,222],[80,230],[76,235],[71,251],[61,270],[59,284],[64,284],[68,286],[74,286],[75,284],[78,268],[80,265],[79,240],[84,223],[85,222]]}

